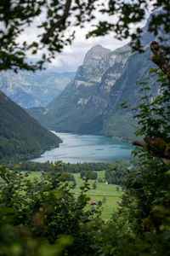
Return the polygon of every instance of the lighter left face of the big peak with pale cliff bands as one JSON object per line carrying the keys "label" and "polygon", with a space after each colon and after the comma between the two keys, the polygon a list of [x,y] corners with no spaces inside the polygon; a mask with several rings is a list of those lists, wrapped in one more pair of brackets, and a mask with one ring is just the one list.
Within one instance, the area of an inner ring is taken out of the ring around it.
{"label": "lighter left face of the big peak with pale cliff bands", "polygon": [[75,79],[46,111],[37,116],[42,125],[56,131],[96,133],[103,129],[103,114],[110,103],[111,87],[121,76],[130,55],[126,45],[111,52],[99,45],[90,49]]}

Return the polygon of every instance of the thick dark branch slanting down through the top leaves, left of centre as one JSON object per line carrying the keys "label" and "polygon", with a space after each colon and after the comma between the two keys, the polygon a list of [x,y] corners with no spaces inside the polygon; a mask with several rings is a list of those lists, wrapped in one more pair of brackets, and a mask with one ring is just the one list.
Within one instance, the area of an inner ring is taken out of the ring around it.
{"label": "thick dark branch slanting down through the top leaves, left of centre", "polygon": [[51,27],[48,29],[48,32],[43,35],[43,38],[42,38],[42,40],[41,40],[41,42],[42,42],[43,44],[48,44],[48,39],[49,39],[51,36],[53,36],[54,30],[55,30],[56,28],[58,28],[58,27],[61,26],[61,25],[65,25],[65,20],[66,20],[67,17],[69,16],[69,11],[70,11],[70,9],[71,9],[71,1],[72,1],[72,0],[66,0],[64,14],[60,17],[60,19],[59,19],[56,23],[54,23],[53,26],[51,26]]}

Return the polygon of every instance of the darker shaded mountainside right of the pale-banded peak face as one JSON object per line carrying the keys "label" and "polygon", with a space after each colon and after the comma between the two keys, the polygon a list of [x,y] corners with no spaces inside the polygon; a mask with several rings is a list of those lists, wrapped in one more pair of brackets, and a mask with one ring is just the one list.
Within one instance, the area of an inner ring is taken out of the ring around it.
{"label": "darker shaded mountainside right of the pale-banded peak face", "polygon": [[[107,136],[123,137],[127,140],[133,139],[137,124],[133,119],[133,112],[129,108],[116,110],[122,102],[127,102],[135,107],[141,102],[144,92],[140,89],[137,81],[150,77],[150,68],[155,67],[149,60],[151,53],[147,49],[144,54],[131,55],[122,71],[122,76],[116,80],[111,87],[110,103],[106,109],[103,119],[103,133]],[[150,83],[152,96],[157,94],[157,84],[153,80]]]}

